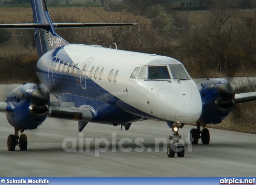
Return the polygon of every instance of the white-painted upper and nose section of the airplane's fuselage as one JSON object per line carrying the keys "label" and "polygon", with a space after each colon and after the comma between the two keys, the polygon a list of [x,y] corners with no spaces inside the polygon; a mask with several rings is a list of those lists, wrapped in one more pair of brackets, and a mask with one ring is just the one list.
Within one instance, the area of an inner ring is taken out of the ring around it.
{"label": "white-painted upper and nose section of the airplane's fuselage", "polygon": [[[188,75],[186,79],[174,79],[172,76],[169,65],[183,67],[182,63],[176,59],[79,44],[65,45],[64,49],[74,62],[74,66],[77,64],[78,69],[83,71],[87,65],[86,71],[84,70],[86,78],[90,78],[118,99],[148,115],[160,120],[182,123],[195,122],[201,115],[200,93],[187,71],[184,69],[184,73]],[[63,64],[63,70],[65,64]],[[58,65],[61,67],[61,64]],[[170,79],[148,79],[150,66],[167,66]],[[60,67],[56,68],[54,65],[57,72]],[[145,79],[130,78],[136,67],[146,67],[144,68],[147,69]],[[103,74],[100,73],[102,68],[104,68]],[[86,82],[85,84],[82,82],[85,76],[82,73],[80,75],[81,89],[90,88]],[[116,106],[119,106],[118,103]],[[122,106],[119,108],[125,110]],[[137,116],[140,116],[139,112]]]}

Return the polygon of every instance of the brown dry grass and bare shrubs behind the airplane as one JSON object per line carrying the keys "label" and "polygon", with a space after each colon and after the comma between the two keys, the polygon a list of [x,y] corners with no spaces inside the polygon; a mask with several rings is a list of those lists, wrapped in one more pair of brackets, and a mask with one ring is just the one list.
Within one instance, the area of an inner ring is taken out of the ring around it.
{"label": "brown dry grass and bare shrubs behind the airplane", "polygon": [[[32,22],[30,0],[0,3],[1,24]],[[48,7],[53,22],[138,23],[57,30],[70,43],[117,43],[118,49],[173,57],[192,78],[256,76],[255,0],[48,0]],[[33,35],[0,29],[1,83],[38,82]],[[256,133],[255,112],[254,102],[236,105],[214,128]]]}

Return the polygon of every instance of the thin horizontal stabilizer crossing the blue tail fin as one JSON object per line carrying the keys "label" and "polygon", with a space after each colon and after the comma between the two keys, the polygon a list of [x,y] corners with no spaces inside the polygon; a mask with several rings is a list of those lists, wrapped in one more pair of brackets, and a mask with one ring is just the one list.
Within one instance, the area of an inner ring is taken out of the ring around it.
{"label": "thin horizontal stabilizer crossing the blue tail fin", "polygon": [[[113,27],[113,26],[136,26],[136,23],[52,23],[54,28],[90,28],[90,27]],[[4,29],[46,29],[50,25],[44,23],[29,24],[0,24]]]}

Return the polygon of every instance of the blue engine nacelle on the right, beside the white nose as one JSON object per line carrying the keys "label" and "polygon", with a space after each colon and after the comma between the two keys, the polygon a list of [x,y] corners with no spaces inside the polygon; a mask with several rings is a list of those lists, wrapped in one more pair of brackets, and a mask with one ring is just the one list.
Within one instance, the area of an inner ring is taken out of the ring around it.
{"label": "blue engine nacelle on the right, beside the white nose", "polygon": [[208,79],[197,84],[202,98],[202,114],[197,122],[221,123],[232,111],[235,89],[224,79]]}

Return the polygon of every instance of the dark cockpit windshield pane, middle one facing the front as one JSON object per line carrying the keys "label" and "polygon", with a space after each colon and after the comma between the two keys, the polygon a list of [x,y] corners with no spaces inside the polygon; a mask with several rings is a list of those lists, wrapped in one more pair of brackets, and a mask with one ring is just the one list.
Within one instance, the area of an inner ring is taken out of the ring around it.
{"label": "dark cockpit windshield pane, middle one facing the front", "polygon": [[148,79],[170,79],[167,66],[148,67]]}

